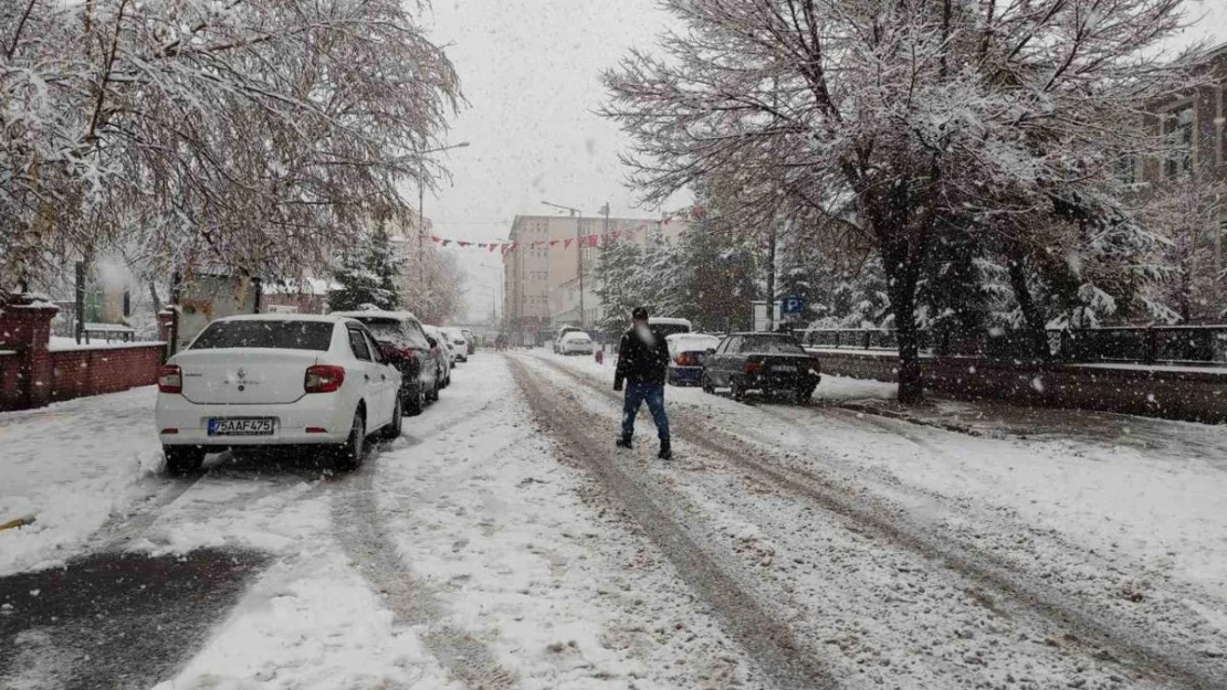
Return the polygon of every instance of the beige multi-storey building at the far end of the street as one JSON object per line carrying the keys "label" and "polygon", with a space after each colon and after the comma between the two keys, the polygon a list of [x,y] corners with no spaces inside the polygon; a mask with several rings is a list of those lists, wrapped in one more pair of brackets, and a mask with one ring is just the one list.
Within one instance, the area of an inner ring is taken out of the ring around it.
{"label": "beige multi-storey building at the far end of the street", "polygon": [[649,246],[660,239],[675,241],[685,228],[682,221],[656,218],[517,216],[508,234],[517,249],[503,255],[503,314],[512,337],[542,343],[563,324],[600,319],[594,272],[601,248],[578,248],[577,238],[618,233]]}

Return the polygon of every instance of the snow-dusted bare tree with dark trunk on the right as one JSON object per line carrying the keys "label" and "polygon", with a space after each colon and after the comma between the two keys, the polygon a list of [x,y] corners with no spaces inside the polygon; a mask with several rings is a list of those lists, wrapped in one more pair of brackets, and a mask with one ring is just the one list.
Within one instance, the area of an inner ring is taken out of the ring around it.
{"label": "snow-dusted bare tree with dark trunk on the right", "polygon": [[[888,279],[899,398],[915,401],[934,238],[1054,200],[1114,207],[1106,151],[1144,148],[1136,109],[1185,83],[1156,49],[1182,4],[665,0],[686,31],[606,75],[606,114],[633,137],[648,201],[735,169],[763,207],[856,227]],[[1097,241],[1137,230],[1102,228]]]}

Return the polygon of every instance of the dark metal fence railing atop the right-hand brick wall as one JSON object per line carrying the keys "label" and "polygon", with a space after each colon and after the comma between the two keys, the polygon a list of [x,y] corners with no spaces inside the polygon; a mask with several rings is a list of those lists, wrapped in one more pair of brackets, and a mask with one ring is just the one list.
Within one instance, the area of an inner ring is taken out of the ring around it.
{"label": "dark metal fence railing atop the right-hand brick wall", "polygon": [[[806,347],[863,351],[898,348],[898,336],[891,328],[809,328],[799,336]],[[1063,362],[1227,364],[1227,324],[1050,328],[1047,336],[1049,357]],[[1010,330],[966,336],[921,330],[919,341],[921,351],[939,355],[1036,358],[1029,331]]]}

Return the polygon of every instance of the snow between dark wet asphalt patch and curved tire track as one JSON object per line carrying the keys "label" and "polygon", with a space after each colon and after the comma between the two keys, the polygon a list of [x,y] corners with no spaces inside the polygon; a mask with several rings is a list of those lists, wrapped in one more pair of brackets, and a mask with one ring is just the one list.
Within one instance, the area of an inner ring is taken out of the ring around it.
{"label": "snow between dark wet asphalt patch and curved tire track", "polygon": [[455,688],[418,632],[394,625],[345,556],[330,525],[331,487],[281,479],[206,477],[136,544],[172,553],[245,547],[279,556],[195,658],[156,690]]}

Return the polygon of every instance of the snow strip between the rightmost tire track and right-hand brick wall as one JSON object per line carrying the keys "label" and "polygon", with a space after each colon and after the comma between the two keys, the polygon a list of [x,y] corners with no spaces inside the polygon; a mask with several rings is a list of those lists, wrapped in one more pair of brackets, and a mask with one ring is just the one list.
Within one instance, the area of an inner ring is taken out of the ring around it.
{"label": "snow strip between the rightmost tire track and right-hand brick wall", "polygon": [[[610,362],[555,360],[612,382]],[[845,386],[832,379],[836,390]],[[822,386],[816,398],[825,396]],[[1076,411],[1045,411],[1040,425],[1027,422],[1031,411],[1014,408],[1015,434],[973,438],[836,408],[745,406],[697,389],[670,387],[666,400],[702,411],[715,427],[793,451],[806,467],[871,484],[918,520],[947,521],[980,532],[982,540],[1023,527],[1058,536],[1075,554],[1066,559],[1091,553],[1124,574],[1099,576],[1106,588],[1193,585],[1198,607],[1215,612],[1201,618],[1227,615],[1227,427]],[[1002,407],[994,413],[1004,414]],[[1044,431],[1040,438],[1027,435],[1028,424]],[[1173,604],[1183,598],[1168,596]]]}

